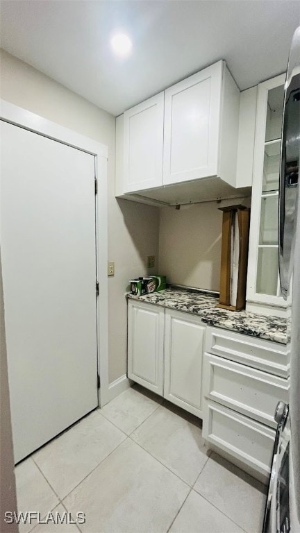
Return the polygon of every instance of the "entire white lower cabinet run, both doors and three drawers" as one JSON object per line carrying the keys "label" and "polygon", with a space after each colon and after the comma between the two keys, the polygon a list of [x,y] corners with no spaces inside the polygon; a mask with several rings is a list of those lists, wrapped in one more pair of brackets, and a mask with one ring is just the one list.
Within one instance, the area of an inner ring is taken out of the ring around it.
{"label": "entire white lower cabinet run, both doors and three drawers", "polygon": [[288,403],[288,346],[128,300],[128,378],[203,418],[212,448],[267,482],[274,412]]}

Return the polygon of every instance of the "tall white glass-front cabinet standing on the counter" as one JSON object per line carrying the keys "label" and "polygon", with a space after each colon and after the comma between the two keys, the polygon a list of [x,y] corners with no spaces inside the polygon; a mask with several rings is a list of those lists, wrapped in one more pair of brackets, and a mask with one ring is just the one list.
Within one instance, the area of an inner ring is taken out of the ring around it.
{"label": "tall white glass-front cabinet standing on the counter", "polygon": [[278,279],[278,188],[285,74],[258,85],[247,305],[287,307]]}

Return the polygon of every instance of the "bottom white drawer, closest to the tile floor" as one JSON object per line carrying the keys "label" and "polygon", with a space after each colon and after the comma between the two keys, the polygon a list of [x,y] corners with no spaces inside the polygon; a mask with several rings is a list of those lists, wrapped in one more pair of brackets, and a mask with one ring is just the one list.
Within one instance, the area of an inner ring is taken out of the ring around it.
{"label": "bottom white drawer, closest to the tile floor", "polygon": [[275,430],[210,400],[204,410],[204,439],[261,475],[269,475]]}

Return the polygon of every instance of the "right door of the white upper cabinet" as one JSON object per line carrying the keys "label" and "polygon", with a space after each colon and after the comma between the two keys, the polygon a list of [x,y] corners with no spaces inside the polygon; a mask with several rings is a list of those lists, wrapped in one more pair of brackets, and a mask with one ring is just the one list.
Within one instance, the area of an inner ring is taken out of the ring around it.
{"label": "right door of the white upper cabinet", "polygon": [[217,175],[223,62],[165,91],[163,183]]}

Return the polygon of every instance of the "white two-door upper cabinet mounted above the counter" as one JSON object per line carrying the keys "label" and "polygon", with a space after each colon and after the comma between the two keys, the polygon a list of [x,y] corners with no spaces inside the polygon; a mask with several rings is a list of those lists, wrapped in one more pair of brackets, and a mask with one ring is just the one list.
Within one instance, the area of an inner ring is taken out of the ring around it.
{"label": "white two-door upper cabinet mounted above the counter", "polygon": [[240,90],[224,61],[124,112],[117,117],[116,196],[158,205],[247,196],[251,173],[237,174],[240,112]]}

